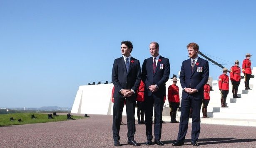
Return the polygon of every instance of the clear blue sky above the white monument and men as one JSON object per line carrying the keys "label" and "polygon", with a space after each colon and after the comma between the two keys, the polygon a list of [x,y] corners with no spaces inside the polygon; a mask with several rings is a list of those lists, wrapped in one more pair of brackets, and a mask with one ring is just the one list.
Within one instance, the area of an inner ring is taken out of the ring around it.
{"label": "clear blue sky above the white monument and men", "polygon": [[[72,107],[80,85],[111,81],[124,40],[132,41],[141,65],[157,41],[170,77],[188,58],[190,42],[229,69],[235,60],[241,66],[246,53],[255,66],[255,6],[255,0],[0,0],[0,107]],[[209,65],[217,80],[221,68]]]}

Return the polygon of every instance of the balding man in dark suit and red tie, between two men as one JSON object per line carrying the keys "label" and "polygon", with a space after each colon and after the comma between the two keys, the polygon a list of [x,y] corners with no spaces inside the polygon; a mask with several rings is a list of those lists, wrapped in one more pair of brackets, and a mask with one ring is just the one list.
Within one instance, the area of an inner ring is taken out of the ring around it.
{"label": "balding man in dark suit and red tie, between two men", "polygon": [[144,89],[144,112],[146,122],[146,145],[152,145],[152,116],[154,107],[154,142],[163,146],[160,141],[162,131],[162,112],[164,96],[166,95],[165,82],[169,79],[170,63],[168,58],[159,55],[159,44],[149,44],[149,52],[152,57],[144,60],[142,64],[142,81]]}

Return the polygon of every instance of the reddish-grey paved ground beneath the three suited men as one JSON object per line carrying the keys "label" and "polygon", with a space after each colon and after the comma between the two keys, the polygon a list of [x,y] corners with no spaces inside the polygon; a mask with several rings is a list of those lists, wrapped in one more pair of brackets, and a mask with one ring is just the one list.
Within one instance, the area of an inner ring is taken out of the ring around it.
{"label": "reddish-grey paved ground beneath the three suited men", "polygon": [[[19,126],[0,127],[1,148],[111,148],[112,116],[89,115],[90,118],[50,122],[42,124],[26,124]],[[126,116],[124,122],[126,123]],[[162,141],[165,146],[147,147],[172,147],[171,143],[177,137],[179,124],[166,123],[162,127]],[[122,147],[127,145],[127,126],[121,126],[120,142]],[[192,147],[191,124],[186,136],[185,145]],[[135,140],[146,147],[145,125],[136,125]],[[226,126],[214,124],[201,124],[199,136],[200,147],[207,148],[255,148],[256,127]]]}

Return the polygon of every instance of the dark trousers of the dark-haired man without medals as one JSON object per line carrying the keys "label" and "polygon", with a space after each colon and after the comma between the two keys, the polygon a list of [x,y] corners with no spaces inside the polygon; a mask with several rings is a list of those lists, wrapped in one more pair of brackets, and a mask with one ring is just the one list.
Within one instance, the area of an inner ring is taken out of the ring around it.
{"label": "dark trousers of the dark-haired man without medals", "polygon": [[[114,97],[114,107],[113,107],[113,138],[114,141],[120,140],[119,131],[120,131],[120,119],[122,116],[122,110],[124,107],[124,99],[125,98],[117,98]],[[127,137],[128,140],[134,140],[135,134],[135,106],[136,100],[135,97],[125,99],[125,107],[126,107],[126,114],[127,114]]]}

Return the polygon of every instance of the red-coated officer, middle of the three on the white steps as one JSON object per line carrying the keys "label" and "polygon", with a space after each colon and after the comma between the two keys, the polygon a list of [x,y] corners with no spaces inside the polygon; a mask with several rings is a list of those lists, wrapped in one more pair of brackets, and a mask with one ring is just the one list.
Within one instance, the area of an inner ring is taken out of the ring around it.
{"label": "red-coated officer, middle of the three on the white steps", "polygon": [[239,65],[239,61],[235,61],[235,65],[231,67],[230,69],[230,80],[232,83],[232,93],[233,93],[233,98],[240,98],[237,96],[237,91],[238,91],[238,86],[241,81],[241,70]]}

